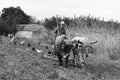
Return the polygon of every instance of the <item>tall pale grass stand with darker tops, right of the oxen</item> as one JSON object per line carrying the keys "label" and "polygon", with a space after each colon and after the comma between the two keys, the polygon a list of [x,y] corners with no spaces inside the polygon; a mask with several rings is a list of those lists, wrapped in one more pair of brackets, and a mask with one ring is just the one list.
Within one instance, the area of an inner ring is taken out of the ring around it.
{"label": "tall pale grass stand with darker tops, right of the oxen", "polygon": [[120,58],[120,23],[104,21],[91,16],[75,17],[69,27],[66,27],[69,38],[85,36],[88,42],[98,41],[93,47],[97,58],[118,60]]}

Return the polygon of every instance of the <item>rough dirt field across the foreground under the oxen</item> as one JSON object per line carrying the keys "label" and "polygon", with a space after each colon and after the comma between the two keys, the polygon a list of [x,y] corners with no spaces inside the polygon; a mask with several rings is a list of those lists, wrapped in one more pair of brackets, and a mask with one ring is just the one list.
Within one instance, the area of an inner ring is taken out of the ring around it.
{"label": "rough dirt field across the foreground under the oxen", "polygon": [[0,42],[0,80],[120,80],[120,61],[87,58],[85,68],[75,67],[69,59],[68,68],[58,66],[50,49],[39,46],[43,55],[28,53],[19,43],[14,45],[3,37]]}

